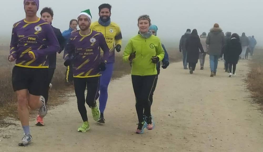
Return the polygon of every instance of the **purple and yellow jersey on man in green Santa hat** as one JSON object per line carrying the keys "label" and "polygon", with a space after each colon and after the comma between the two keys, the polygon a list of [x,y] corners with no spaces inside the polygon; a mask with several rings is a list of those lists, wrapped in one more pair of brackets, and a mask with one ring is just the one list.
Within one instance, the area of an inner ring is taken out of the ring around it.
{"label": "purple and yellow jersey on man in green Santa hat", "polygon": [[82,35],[80,31],[72,33],[66,46],[65,60],[74,56],[73,77],[87,78],[100,76],[101,52],[103,62],[109,58],[109,47],[102,33],[90,30],[89,35]]}

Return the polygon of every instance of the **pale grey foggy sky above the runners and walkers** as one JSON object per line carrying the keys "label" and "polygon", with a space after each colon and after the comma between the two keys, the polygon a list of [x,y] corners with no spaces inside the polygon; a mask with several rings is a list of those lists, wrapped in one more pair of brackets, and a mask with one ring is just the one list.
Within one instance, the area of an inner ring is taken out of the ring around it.
{"label": "pale grey foggy sky above the runners and walkers", "polygon": [[[92,20],[97,21],[98,6],[102,3],[112,5],[111,20],[117,23],[122,31],[123,39],[128,40],[138,33],[137,18],[148,14],[152,24],[158,26],[157,36],[165,43],[173,42],[179,45],[179,39],[187,28],[197,29],[198,34],[209,32],[214,23],[219,23],[222,30],[232,33],[246,32],[247,36],[255,35],[258,43],[263,40],[262,26],[263,2],[259,0],[39,0],[40,6],[52,7],[54,19],[52,25],[62,32],[69,27],[70,19],[90,9]],[[2,9],[0,23],[0,45],[10,43],[12,26],[25,17],[23,0],[9,0],[1,2]],[[7,9],[3,9],[7,8]],[[256,13],[258,12],[258,13]]]}

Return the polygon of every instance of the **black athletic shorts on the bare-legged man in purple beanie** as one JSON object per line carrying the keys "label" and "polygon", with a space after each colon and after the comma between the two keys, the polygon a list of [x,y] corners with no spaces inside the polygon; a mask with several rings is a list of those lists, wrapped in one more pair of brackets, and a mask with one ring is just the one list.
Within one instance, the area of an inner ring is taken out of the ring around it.
{"label": "black athletic shorts on the bare-legged man in purple beanie", "polygon": [[27,68],[14,66],[12,71],[13,90],[27,89],[35,96],[40,96],[48,80],[48,68]]}

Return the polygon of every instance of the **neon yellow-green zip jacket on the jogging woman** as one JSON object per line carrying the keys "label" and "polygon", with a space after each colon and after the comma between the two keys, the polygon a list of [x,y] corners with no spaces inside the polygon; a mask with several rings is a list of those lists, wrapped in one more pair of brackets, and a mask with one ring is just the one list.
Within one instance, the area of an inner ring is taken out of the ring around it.
{"label": "neon yellow-green zip jacket on the jogging woman", "polygon": [[164,58],[160,39],[154,35],[144,38],[140,34],[131,38],[125,47],[123,61],[129,61],[130,54],[135,51],[136,57],[132,60],[131,75],[157,75],[156,64],[151,62],[151,58],[158,56],[160,61]]}

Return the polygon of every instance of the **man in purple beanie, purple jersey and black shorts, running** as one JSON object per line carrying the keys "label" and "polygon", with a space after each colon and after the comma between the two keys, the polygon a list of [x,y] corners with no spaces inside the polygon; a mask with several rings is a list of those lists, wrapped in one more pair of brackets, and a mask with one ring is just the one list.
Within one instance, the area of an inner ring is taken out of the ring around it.
{"label": "man in purple beanie, purple jersey and black shorts, running", "polygon": [[24,0],[26,18],[15,23],[10,44],[10,62],[16,61],[12,71],[13,89],[17,94],[18,116],[24,136],[19,146],[27,146],[32,141],[29,130],[29,111],[39,109],[39,115],[47,114],[45,99],[41,96],[48,86],[47,56],[59,51],[57,37],[51,25],[37,17],[38,0]]}

